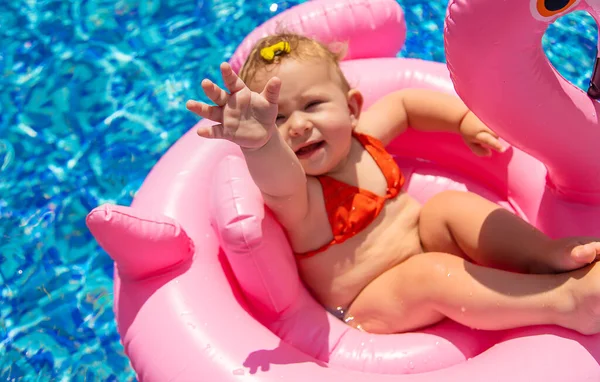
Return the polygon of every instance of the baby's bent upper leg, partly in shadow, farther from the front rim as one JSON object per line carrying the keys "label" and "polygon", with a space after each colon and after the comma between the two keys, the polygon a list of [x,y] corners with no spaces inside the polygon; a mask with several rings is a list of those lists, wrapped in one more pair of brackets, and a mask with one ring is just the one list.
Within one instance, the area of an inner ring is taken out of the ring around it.
{"label": "baby's bent upper leg, partly in shadow, farther from the front rim", "polygon": [[426,251],[447,252],[500,269],[551,273],[581,268],[600,256],[600,238],[553,240],[523,219],[470,192],[446,191],[423,206]]}

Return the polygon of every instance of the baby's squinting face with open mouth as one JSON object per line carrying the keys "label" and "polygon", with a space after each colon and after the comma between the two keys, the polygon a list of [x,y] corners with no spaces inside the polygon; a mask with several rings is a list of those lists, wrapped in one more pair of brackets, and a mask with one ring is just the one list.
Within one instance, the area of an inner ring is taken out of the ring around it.
{"label": "baby's squinting face with open mouth", "polygon": [[304,171],[322,175],[343,165],[360,113],[356,91],[344,90],[335,68],[317,60],[284,60],[248,86],[260,93],[273,76],[281,79],[277,127]]}

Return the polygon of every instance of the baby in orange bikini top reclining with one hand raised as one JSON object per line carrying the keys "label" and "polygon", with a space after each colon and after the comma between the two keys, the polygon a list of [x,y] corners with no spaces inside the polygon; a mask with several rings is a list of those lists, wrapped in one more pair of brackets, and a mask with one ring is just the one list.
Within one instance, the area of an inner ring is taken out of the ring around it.
{"label": "baby in orange bikini top reclining with one hand raised", "polygon": [[[600,239],[553,240],[482,197],[442,192],[421,206],[385,146],[406,129],[461,134],[503,151],[457,97],[403,89],[362,111],[339,57],[295,34],[262,39],[228,91],[187,108],[219,124],[198,135],[241,147],[315,298],[355,328],[410,331],[449,317],[479,329],[556,324],[600,332]],[[598,273],[598,275],[596,275]]]}

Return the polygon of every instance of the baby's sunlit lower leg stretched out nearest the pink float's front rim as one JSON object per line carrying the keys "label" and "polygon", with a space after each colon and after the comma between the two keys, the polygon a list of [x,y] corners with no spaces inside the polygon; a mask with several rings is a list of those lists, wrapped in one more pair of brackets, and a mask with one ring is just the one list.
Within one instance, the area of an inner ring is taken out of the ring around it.
{"label": "baby's sunlit lower leg stretched out nearest the pink float's front rim", "polygon": [[449,317],[485,330],[557,324],[600,331],[600,263],[570,273],[527,275],[445,253],[415,255],[363,289],[346,322],[371,333],[415,330]]}

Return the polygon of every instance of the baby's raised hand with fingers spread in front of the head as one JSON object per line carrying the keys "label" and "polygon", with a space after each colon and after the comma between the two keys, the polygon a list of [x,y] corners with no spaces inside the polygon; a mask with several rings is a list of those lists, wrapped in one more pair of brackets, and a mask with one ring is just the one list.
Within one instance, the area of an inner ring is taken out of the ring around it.
{"label": "baby's raised hand with fingers spread in front of the head", "polygon": [[264,146],[277,130],[275,119],[281,80],[271,78],[258,94],[248,89],[229,64],[221,64],[221,75],[229,93],[208,79],[202,81],[204,93],[216,106],[193,100],[186,103],[191,112],[219,123],[199,128],[198,135],[227,139],[244,149]]}

